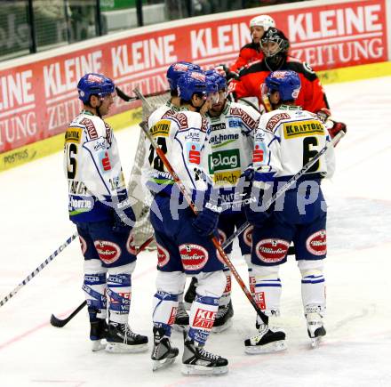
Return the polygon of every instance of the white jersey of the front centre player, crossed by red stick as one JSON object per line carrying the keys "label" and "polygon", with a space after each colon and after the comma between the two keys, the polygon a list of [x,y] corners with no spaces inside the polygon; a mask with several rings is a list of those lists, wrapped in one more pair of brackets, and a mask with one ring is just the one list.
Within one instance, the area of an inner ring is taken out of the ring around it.
{"label": "white jersey of the front centre player, crossed by red stick", "polygon": [[[175,112],[164,107],[148,118],[148,128],[157,144],[178,174],[188,192],[206,190],[203,157],[209,153],[209,126],[199,113],[181,109]],[[163,114],[162,114],[163,112]],[[152,192],[171,195],[174,180],[150,141],[146,140],[146,160],[142,168],[143,181]],[[206,174],[207,175],[207,174]],[[200,177],[203,176],[203,177]]]}

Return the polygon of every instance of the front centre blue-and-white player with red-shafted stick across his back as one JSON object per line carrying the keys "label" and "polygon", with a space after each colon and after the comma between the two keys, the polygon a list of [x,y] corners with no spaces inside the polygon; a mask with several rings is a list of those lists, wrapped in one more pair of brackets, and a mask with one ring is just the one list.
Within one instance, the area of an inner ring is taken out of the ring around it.
{"label": "front centre blue-and-white player with red-shafted stick across his back", "polygon": [[148,188],[154,193],[150,221],[155,230],[158,264],[154,295],[154,369],[166,367],[178,356],[170,342],[172,323],[183,291],[186,274],[198,279],[195,302],[190,310],[190,325],[185,331],[182,372],[223,374],[227,359],[211,354],[203,346],[211,332],[219,298],[226,286],[211,234],[217,232],[219,193],[205,179],[201,160],[208,145],[208,124],[198,112],[218,98],[217,85],[200,72],[188,72],[178,82],[180,112],[148,126],[156,142],[188,192],[201,209],[196,216],[182,197],[171,173],[154,153],[149,158]]}

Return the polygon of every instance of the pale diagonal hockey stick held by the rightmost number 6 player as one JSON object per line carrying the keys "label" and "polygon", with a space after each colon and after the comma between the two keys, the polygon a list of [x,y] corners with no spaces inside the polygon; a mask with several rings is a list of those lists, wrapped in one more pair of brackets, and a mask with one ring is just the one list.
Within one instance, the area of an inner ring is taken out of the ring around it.
{"label": "pale diagonal hockey stick held by the rightmost number 6 player", "polygon": [[[316,155],[311,158],[311,160],[309,160],[307,162],[306,165],[304,165],[298,173],[296,173],[294,176],[291,177],[291,179],[289,181],[287,181],[283,187],[281,189],[279,189],[277,192],[275,192],[275,195],[273,195],[271,198],[269,198],[267,200],[267,203],[265,204],[265,208],[268,208],[269,206],[271,206],[275,200],[277,200],[277,198],[280,198],[283,193],[285,191],[287,191],[288,189],[291,188],[291,186],[299,180],[299,178],[307,172],[307,170],[315,164],[315,162],[320,158],[322,157],[322,155],[327,151],[327,149],[329,149],[331,146],[334,146],[334,144],[336,142],[338,142],[343,136],[345,135],[345,132],[344,131],[340,131],[339,133],[337,133],[337,135],[330,141],[328,142],[321,150],[319,150],[318,153],[316,153]],[[251,224],[250,222],[245,222],[242,224],[241,227],[239,227],[239,229],[235,230],[235,232],[229,237],[227,238],[227,240],[223,243],[222,247],[223,248],[226,248],[227,246],[229,246],[236,237],[238,237],[240,234],[242,234],[242,232],[244,230],[246,230],[248,227],[250,227]]]}

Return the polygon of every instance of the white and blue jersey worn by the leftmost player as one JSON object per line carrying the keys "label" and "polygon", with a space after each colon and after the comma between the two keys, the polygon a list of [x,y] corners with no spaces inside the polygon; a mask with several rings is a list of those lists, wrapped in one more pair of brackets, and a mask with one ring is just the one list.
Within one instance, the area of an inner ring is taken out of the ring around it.
{"label": "white and blue jersey worn by the leftmost player", "polygon": [[111,198],[125,192],[124,173],[113,130],[89,111],[82,111],[65,133],[64,173],[73,222],[112,217]]}

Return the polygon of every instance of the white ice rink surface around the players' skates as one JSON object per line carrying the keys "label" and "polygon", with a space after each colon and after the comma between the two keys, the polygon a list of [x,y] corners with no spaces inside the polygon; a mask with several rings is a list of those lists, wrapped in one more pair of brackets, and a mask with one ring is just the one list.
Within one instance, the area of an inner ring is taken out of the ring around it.
{"label": "white ice rink surface around the players' skates", "polygon": [[[337,172],[323,184],[329,254],[327,336],[320,348],[309,348],[299,270],[291,258],[281,270],[287,351],[244,353],[255,314],[234,284],[233,327],[211,335],[206,347],[227,357],[227,375],[181,375],[180,359],[152,373],[150,351],[92,353],[86,310],[67,327],[49,324],[52,313],[64,318],[84,300],[76,240],[0,308],[0,386],[391,386],[391,77],[325,88],[333,117],[347,123],[348,133],[336,149]],[[117,133],[126,178],[138,138],[137,127]],[[1,173],[0,187],[3,298],[76,229],[68,221],[61,152]],[[247,282],[237,247],[232,260]],[[140,254],[130,323],[150,342],[155,278],[156,254]],[[181,335],[173,333],[172,340],[181,355]]]}

